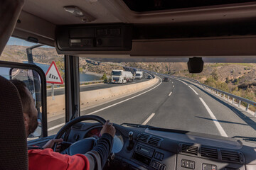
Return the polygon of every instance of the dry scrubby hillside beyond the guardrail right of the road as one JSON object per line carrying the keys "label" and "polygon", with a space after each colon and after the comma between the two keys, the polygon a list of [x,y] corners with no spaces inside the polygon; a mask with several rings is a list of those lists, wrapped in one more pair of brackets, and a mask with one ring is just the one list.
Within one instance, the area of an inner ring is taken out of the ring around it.
{"label": "dry scrubby hillside beyond the guardrail right of the road", "polygon": [[[123,63],[162,74],[189,77],[216,89],[256,101],[256,64],[205,63],[203,72],[190,74],[186,63]],[[242,103],[245,106],[245,103]],[[250,106],[252,111],[256,107]]]}

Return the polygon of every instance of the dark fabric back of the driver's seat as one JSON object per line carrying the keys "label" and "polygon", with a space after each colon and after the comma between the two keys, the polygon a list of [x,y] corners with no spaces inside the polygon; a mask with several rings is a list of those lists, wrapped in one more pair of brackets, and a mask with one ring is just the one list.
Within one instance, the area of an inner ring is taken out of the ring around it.
{"label": "dark fabric back of the driver's seat", "polygon": [[0,169],[28,169],[21,99],[14,84],[0,76]]}

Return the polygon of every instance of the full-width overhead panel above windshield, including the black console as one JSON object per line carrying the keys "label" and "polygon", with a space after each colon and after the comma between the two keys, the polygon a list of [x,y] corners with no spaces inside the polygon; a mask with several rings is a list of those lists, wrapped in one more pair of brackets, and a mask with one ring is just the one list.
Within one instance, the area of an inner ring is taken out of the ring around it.
{"label": "full-width overhead panel above windshield, including the black console", "polygon": [[143,62],[150,62],[149,57],[159,59],[163,56],[255,56],[256,32],[252,28],[256,28],[256,25],[229,26],[127,23],[57,26],[55,47],[60,55],[127,59],[144,57]]}

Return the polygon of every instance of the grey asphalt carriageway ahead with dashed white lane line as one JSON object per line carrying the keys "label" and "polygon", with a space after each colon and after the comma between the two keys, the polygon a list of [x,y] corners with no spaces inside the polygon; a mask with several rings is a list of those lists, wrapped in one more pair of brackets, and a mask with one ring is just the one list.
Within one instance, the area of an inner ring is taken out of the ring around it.
{"label": "grey asphalt carriageway ahead with dashed white lane line", "polygon": [[[113,123],[139,123],[160,128],[202,132],[223,137],[255,137],[255,117],[235,108],[188,81],[171,79],[137,94],[119,98],[81,115],[94,114]],[[64,125],[64,118],[48,123],[48,135]]]}

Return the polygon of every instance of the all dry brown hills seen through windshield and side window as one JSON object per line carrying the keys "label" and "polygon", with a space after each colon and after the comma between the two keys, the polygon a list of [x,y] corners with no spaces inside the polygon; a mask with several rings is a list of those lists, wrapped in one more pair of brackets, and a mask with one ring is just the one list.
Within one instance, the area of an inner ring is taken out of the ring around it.
{"label": "all dry brown hills seen through windshield and side window", "polygon": [[[50,64],[55,61],[59,69],[64,69],[64,57],[58,55],[55,48],[39,47],[33,50],[34,62]],[[10,62],[27,61],[26,47],[7,45],[0,56],[0,60]],[[80,58],[80,72],[107,74],[110,76],[112,69],[122,69],[122,66],[137,67],[163,74],[190,77],[208,84],[217,89],[233,93],[238,96],[256,101],[256,64],[231,64],[231,63],[205,63],[203,72],[189,74],[186,63],[169,62],[129,62],[112,63],[102,62],[100,65],[89,64],[85,58]],[[61,72],[63,76],[63,72]]]}

